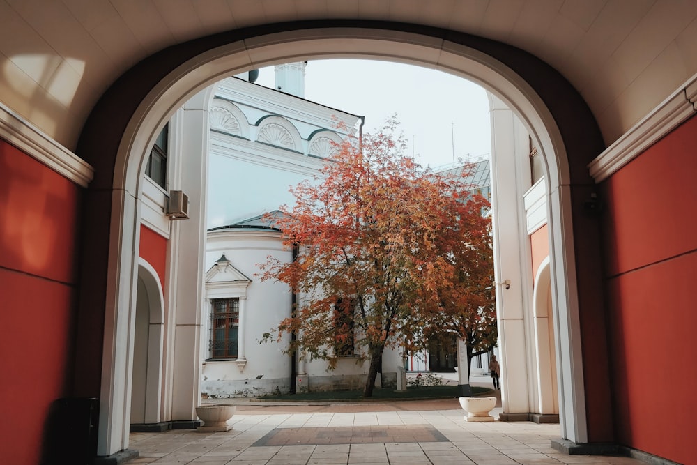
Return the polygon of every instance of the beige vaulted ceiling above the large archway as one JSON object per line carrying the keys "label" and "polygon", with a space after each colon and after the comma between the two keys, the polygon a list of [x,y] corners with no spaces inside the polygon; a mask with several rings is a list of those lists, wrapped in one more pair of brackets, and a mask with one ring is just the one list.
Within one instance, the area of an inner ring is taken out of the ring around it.
{"label": "beige vaulted ceiling above the large archway", "polygon": [[275,22],[423,24],[560,71],[606,144],[697,73],[694,0],[0,0],[0,100],[67,148],[114,80],[170,45]]}

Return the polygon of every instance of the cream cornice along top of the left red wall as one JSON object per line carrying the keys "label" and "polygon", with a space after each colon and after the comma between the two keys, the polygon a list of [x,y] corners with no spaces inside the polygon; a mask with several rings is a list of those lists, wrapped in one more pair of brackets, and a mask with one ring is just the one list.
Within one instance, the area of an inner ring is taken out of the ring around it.
{"label": "cream cornice along top of the left red wall", "polygon": [[86,188],[94,169],[0,102],[0,137],[56,173]]}

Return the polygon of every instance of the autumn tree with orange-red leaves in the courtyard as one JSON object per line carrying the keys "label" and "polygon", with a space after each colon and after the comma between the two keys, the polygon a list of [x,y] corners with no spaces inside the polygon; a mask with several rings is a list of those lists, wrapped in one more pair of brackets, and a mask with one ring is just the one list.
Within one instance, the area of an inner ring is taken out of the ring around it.
{"label": "autumn tree with orange-red leaves in the courtyard", "polygon": [[489,251],[488,202],[469,192],[467,170],[454,177],[422,168],[405,155],[396,124],[346,140],[321,176],[291,189],[296,205],[282,207],[276,224],[284,244],[299,252],[291,263],[262,266],[263,279],[300,296],[275,328],[278,337],[294,335],[286,351],[333,368],[341,348],[355,346],[369,360],[365,397],[386,348],[423,349],[443,311],[472,317],[477,310],[459,303],[470,277],[479,277],[464,251]]}

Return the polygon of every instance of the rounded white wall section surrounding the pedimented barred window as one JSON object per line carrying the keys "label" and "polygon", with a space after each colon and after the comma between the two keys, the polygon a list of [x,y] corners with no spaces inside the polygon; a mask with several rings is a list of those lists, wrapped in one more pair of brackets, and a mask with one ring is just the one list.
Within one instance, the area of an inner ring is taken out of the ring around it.
{"label": "rounded white wall section surrounding the pedimented barred window", "polygon": [[[261,335],[291,314],[291,292],[280,282],[260,282],[256,264],[269,255],[290,261],[278,231],[233,230],[208,234],[207,257],[217,255],[229,260],[216,262],[206,273],[204,299],[204,356],[201,392],[210,397],[252,397],[274,390],[288,392],[291,382],[291,357],[283,353],[288,337],[279,343],[260,344]],[[225,269],[219,269],[225,268]],[[239,298],[238,356],[233,360],[213,360],[211,340],[211,303],[215,298]]]}

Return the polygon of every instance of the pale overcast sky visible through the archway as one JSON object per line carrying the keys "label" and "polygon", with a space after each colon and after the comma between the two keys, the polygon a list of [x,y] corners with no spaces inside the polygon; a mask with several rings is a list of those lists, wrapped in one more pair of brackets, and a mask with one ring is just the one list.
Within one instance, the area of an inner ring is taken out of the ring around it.
{"label": "pale overcast sky visible through the archway", "polygon": [[[256,84],[273,88],[273,66]],[[364,132],[397,114],[414,158],[431,168],[491,152],[489,101],[482,87],[440,71],[386,61],[327,59],[305,68],[305,98],[365,116]]]}

